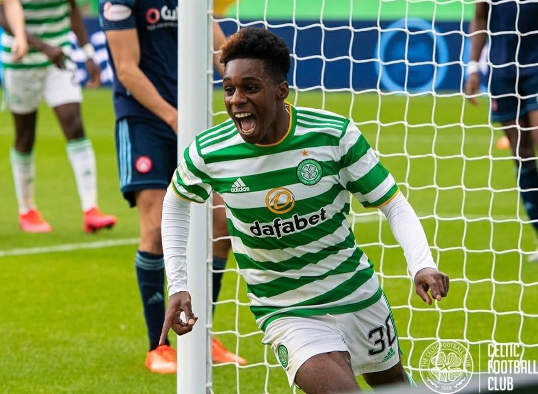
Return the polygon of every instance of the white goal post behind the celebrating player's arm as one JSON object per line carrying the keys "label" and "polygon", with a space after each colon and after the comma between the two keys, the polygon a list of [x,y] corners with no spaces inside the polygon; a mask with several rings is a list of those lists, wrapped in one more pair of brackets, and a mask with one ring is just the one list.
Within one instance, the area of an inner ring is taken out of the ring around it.
{"label": "white goal post behind the celebrating player's arm", "polygon": [[[211,124],[211,0],[178,3],[178,160],[199,132]],[[178,393],[205,393],[211,381],[211,215],[207,204],[191,204],[187,276],[192,309],[198,321],[178,336]]]}

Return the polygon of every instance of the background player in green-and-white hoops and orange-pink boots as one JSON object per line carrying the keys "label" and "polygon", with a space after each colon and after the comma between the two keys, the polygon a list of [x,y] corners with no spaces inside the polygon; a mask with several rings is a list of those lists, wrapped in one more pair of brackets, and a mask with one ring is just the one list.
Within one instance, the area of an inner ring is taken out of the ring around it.
{"label": "background player in green-and-white hoops and orange-pink boots", "polygon": [[112,227],[116,218],[104,215],[97,206],[97,175],[92,144],[84,134],[80,114],[82,93],[77,81],[76,66],[69,59],[71,44],[68,33],[73,30],[86,57],[90,75],[87,86],[100,85],[100,69],[92,60],[94,50],[88,41],[84,22],[75,0],[43,2],[25,1],[24,18],[30,51],[19,60],[13,54],[17,41],[11,34],[4,15],[0,23],[4,50],[4,104],[13,114],[15,146],[10,160],[19,205],[19,224],[27,232],[49,232],[51,226],[34,203],[35,141],[37,108],[42,98],[53,108],[67,138],[67,156],[77,183],[86,232]]}

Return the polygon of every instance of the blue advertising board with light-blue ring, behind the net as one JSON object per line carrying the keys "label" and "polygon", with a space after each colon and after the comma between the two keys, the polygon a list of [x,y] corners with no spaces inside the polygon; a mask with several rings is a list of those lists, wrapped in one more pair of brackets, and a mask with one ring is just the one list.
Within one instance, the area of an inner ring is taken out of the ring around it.
{"label": "blue advertising board with light-blue ring, behind the net", "polygon": [[[244,22],[244,21],[243,21]],[[289,82],[302,89],[352,89],[361,91],[431,92],[461,91],[469,57],[467,24],[419,18],[396,21],[268,21],[275,34],[292,49]],[[249,24],[250,25],[250,24]],[[104,85],[112,82],[105,35],[96,18],[86,19],[95,60],[101,66]],[[231,20],[221,22],[226,35],[237,31]],[[260,25],[262,26],[262,25]],[[463,29],[463,30],[462,30]],[[78,76],[87,81],[84,55],[75,44],[72,58]]]}

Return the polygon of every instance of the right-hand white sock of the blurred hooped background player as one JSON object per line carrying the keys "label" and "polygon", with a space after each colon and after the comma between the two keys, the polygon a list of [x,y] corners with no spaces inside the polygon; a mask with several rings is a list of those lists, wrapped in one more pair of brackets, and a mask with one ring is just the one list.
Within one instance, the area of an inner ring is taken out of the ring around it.
{"label": "right-hand white sock of the blurred hooped background player", "polygon": [[92,143],[87,138],[67,141],[67,157],[75,173],[82,210],[97,206],[97,171]]}

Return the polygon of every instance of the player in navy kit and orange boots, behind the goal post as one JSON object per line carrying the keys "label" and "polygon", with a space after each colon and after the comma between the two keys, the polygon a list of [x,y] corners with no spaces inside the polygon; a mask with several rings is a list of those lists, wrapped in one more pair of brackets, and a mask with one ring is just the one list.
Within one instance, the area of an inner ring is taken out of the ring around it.
{"label": "player in navy kit and orange boots, behind the goal post", "polygon": [[[138,208],[140,244],[135,257],[138,286],[149,336],[146,367],[175,373],[175,351],[159,346],[164,322],[164,261],[161,244],[162,201],[177,166],[177,0],[101,0],[99,17],[114,68],[116,149],[121,191]],[[214,24],[214,47],[225,37]],[[220,67],[219,56],[215,64]],[[214,204],[223,205],[214,195]],[[214,216],[214,237],[228,235],[225,214]],[[230,243],[214,247],[213,298],[220,290]],[[213,341],[218,362],[245,360]]]}

